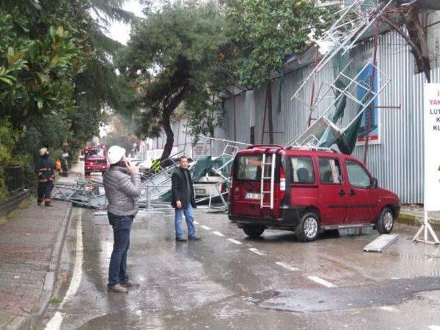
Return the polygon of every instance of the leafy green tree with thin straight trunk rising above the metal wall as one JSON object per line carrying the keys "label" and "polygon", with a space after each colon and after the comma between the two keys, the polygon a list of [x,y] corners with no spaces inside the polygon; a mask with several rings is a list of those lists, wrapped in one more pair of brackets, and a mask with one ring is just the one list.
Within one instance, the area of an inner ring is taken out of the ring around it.
{"label": "leafy green tree with thin straight trunk rising above the metal wall", "polygon": [[273,143],[271,78],[283,74],[289,54],[304,50],[309,36],[318,36],[330,12],[313,0],[232,0],[228,20],[243,58],[237,75],[245,86],[267,84],[270,143]]}

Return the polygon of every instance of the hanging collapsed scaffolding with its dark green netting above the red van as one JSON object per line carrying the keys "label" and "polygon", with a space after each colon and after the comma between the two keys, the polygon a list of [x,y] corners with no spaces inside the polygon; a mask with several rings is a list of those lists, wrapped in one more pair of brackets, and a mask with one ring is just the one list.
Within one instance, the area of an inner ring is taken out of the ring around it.
{"label": "hanging collapsed scaffolding with its dark green netting above the red van", "polygon": [[[330,148],[336,144],[342,153],[351,154],[366,115],[366,161],[371,112],[377,97],[391,81],[377,67],[378,18],[393,1],[353,0],[349,5],[342,5],[336,13],[339,19],[322,35],[322,39],[316,41],[314,69],[291,98],[308,109],[309,120],[305,131],[287,142],[287,146]],[[375,37],[373,61],[353,73],[351,50],[368,36]],[[323,50],[321,57],[320,48]],[[329,63],[333,66],[334,78],[331,82],[322,82],[316,91],[316,76]],[[311,96],[305,100],[301,95],[305,94],[308,85],[311,85]],[[315,113],[317,118],[313,118]]]}

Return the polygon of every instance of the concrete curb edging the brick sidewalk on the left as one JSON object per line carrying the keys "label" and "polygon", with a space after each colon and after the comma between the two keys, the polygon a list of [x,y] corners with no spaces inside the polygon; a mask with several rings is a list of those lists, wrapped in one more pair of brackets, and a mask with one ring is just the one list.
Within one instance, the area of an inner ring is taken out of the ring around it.
{"label": "concrete curb edging the brick sidewalk on the left", "polygon": [[63,248],[65,245],[65,240],[67,237],[67,231],[69,229],[69,224],[72,219],[72,203],[69,203],[67,209],[65,210],[65,214],[63,217],[63,222],[61,225],[61,230],[58,232],[58,236],[56,236],[56,241],[52,247],[52,254],[50,256],[50,264],[49,269],[45,275],[43,292],[41,292],[40,303],[41,307],[36,314],[32,314],[25,318],[21,318],[21,320],[17,320],[16,322],[10,323],[6,329],[8,330],[26,330],[26,329],[36,329],[36,326],[39,325],[43,314],[45,313],[47,307],[50,304],[50,298],[52,294],[54,294],[56,277],[58,275],[58,268],[60,265],[61,253],[63,252]]}

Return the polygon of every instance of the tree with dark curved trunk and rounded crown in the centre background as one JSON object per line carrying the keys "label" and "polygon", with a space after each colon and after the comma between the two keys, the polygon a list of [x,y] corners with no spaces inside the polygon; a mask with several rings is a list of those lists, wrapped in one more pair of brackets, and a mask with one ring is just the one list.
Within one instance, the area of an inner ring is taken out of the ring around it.
{"label": "tree with dark curved trunk and rounded crown in the centre background", "polygon": [[155,137],[162,129],[166,133],[162,160],[173,148],[170,118],[179,104],[190,117],[217,107],[212,95],[230,79],[221,65],[227,30],[212,3],[168,3],[133,26],[119,58],[120,72],[129,78],[144,108],[140,135]]}

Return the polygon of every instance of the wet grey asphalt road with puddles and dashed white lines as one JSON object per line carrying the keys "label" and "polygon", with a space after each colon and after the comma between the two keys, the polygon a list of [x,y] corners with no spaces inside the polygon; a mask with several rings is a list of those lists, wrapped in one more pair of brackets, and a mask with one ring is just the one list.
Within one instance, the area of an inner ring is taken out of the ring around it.
{"label": "wet grey asphalt road with puddles and dashed white lines", "polygon": [[60,295],[74,272],[78,221],[83,267],[78,291],[47,311],[46,322],[61,316],[52,329],[440,329],[440,250],[412,243],[417,228],[397,225],[399,241],[378,254],[362,251],[377,233],[300,243],[267,230],[252,240],[226,215],[197,210],[203,240],[176,243],[171,212],[141,212],[129,250],[141,287],[108,294],[107,217],[74,212]]}

